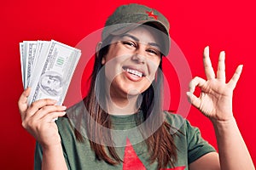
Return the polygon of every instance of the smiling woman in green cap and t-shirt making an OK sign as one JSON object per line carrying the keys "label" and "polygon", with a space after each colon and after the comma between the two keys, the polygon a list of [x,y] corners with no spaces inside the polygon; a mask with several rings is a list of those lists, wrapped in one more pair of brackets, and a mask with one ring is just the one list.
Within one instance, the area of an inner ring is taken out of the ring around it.
{"label": "smiling woman in green cap and t-shirt making an OK sign", "polygon": [[[83,101],[66,113],[52,99],[28,106],[30,88],[21,94],[22,125],[37,139],[35,169],[254,169],[232,113],[242,66],[225,83],[224,52],[215,77],[205,48],[207,80],[195,77],[187,93],[212,121],[219,155],[188,121],[161,110],[168,31],[168,21],[155,9],[120,6],[102,32]],[[199,98],[195,87],[201,88]]]}

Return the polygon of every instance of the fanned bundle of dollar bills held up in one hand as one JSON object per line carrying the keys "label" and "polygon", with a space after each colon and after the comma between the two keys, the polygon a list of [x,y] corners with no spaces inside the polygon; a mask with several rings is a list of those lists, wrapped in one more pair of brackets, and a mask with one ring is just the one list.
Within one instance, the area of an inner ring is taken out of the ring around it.
{"label": "fanned bundle of dollar bills held up in one hand", "polygon": [[81,51],[55,40],[20,42],[23,87],[31,87],[28,105],[55,99],[62,105]]}

